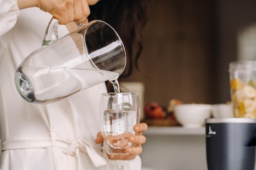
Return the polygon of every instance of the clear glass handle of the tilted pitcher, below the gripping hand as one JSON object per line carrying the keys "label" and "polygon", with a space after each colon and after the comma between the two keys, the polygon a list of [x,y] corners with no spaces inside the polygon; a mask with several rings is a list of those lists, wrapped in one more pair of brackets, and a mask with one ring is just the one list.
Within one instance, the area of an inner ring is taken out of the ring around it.
{"label": "clear glass handle of the tilted pitcher, below the gripping hand", "polygon": [[52,44],[58,40],[58,20],[53,18],[50,20],[43,39],[42,46]]}

